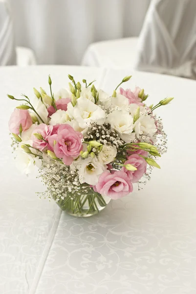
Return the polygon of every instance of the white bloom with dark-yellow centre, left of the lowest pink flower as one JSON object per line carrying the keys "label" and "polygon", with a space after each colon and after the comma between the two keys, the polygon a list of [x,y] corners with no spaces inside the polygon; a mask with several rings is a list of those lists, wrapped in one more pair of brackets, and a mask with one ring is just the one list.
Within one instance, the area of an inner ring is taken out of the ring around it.
{"label": "white bloom with dark-yellow centre, left of the lowest pink flower", "polygon": [[77,165],[80,183],[87,183],[89,185],[96,185],[100,174],[107,168],[101,164],[96,157],[88,157],[81,160]]}

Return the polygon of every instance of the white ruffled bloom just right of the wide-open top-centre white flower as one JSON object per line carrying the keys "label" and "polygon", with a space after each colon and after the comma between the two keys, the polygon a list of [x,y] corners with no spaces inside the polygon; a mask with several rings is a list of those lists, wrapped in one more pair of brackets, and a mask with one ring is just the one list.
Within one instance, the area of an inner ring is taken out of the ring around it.
{"label": "white ruffled bloom just right of the wide-open top-centre white flower", "polygon": [[135,139],[133,118],[128,111],[115,110],[109,113],[107,122],[126,143],[131,143]]}

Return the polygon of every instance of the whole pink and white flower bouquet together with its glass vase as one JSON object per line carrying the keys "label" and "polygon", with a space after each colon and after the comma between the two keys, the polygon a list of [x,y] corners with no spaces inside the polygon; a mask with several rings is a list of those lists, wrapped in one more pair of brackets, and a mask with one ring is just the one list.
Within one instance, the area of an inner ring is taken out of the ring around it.
{"label": "whole pink and white flower bouquet together with its glass vase", "polygon": [[53,198],[67,213],[87,217],[101,211],[110,199],[140,188],[150,179],[156,159],[167,150],[166,134],[154,110],[165,98],[146,105],[144,89],[118,87],[109,96],[93,82],[84,86],[73,76],[69,89],[49,93],[34,88],[35,101],[26,95],[9,120],[17,166],[28,174],[37,166],[46,185],[41,196]]}

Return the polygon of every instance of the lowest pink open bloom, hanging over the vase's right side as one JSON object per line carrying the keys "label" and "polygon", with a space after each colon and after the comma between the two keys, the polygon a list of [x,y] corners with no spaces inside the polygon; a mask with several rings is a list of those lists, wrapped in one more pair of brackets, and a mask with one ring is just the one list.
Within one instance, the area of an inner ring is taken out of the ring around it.
{"label": "lowest pink open bloom, hanging over the vase's right side", "polygon": [[102,195],[109,196],[111,199],[118,199],[130,194],[133,191],[132,183],[125,172],[116,171],[110,173],[103,172],[95,189]]}

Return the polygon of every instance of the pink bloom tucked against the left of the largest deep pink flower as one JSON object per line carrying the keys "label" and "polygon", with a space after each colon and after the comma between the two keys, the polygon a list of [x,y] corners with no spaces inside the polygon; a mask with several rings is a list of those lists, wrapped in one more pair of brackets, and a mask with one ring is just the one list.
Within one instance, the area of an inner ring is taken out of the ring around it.
{"label": "pink bloom tucked against the left of the largest deep pink flower", "polygon": [[[48,144],[48,138],[53,134],[57,133],[59,124],[57,125],[47,125],[45,123],[39,124],[33,131],[31,140],[33,141],[33,147],[43,151],[45,148],[52,150]],[[40,134],[44,140],[38,139],[34,134]]]}

